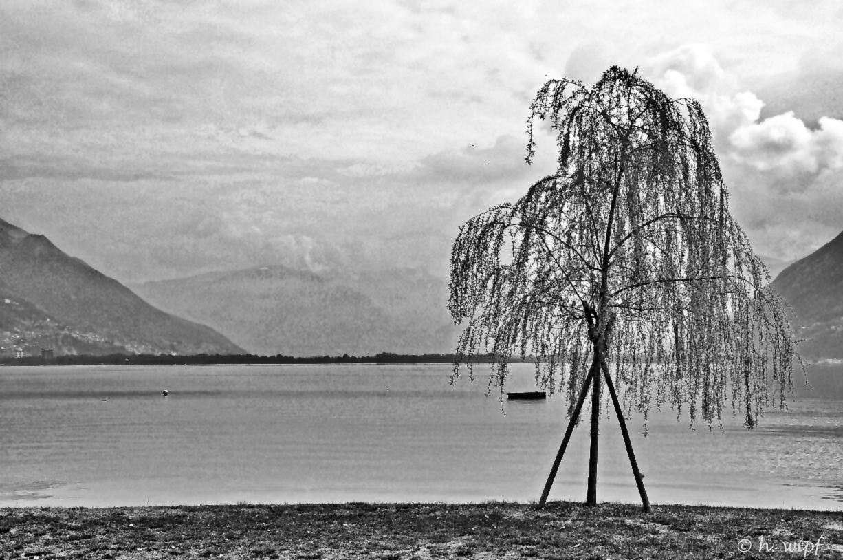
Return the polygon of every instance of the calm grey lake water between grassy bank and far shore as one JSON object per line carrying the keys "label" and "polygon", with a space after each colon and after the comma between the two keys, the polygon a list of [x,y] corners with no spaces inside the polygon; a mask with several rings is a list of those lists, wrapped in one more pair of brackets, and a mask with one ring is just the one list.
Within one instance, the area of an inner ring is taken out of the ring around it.
{"label": "calm grey lake water between grassy bank and far shore", "polygon": [[[537,500],[564,398],[506,401],[504,415],[486,377],[449,386],[449,374],[447,364],[3,367],[0,506]],[[754,431],[731,412],[709,432],[653,411],[644,438],[633,417],[651,502],[843,510],[843,369],[809,375],[813,390]],[[515,364],[507,389],[532,380],[531,365]],[[635,503],[609,412],[598,499]],[[583,500],[587,473],[586,421],[550,499]]]}

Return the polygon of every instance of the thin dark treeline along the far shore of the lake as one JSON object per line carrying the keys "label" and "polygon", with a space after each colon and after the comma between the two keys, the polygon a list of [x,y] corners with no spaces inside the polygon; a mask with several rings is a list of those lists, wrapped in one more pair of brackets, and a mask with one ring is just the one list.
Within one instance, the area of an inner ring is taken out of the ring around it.
{"label": "thin dark treeline along the far shore of the lake", "polygon": [[[495,356],[475,356],[475,363],[491,363]],[[529,363],[529,358],[513,357],[513,363]],[[395,354],[382,352],[374,356],[257,356],[255,354],[194,354],[174,356],[171,354],[107,354],[105,356],[63,355],[55,358],[28,356],[25,358],[2,358],[0,365],[217,365],[217,364],[283,364],[283,363],[454,363],[454,354]]]}

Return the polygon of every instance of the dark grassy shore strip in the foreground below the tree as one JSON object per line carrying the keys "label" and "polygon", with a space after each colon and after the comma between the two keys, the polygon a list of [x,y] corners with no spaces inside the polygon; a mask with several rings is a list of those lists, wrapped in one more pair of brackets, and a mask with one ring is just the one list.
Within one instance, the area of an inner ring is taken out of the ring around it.
{"label": "dark grassy shore strip in the foreground below the tree", "polygon": [[566,502],[14,508],[0,509],[0,557],[840,558],[843,514]]}

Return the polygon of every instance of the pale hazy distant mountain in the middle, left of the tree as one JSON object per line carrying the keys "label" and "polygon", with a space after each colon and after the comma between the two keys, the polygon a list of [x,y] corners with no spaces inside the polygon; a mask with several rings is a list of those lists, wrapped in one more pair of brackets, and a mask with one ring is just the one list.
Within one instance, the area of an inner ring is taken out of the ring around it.
{"label": "pale hazy distant mountain in the middle, left of the tree", "polygon": [[448,353],[459,332],[445,308],[447,285],[414,269],[316,273],[255,267],[132,289],[258,354]]}

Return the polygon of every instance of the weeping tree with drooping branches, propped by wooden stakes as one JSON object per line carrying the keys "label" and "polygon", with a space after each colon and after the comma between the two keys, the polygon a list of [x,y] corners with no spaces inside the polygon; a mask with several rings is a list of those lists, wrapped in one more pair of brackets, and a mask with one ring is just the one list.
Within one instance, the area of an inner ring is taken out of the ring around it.
{"label": "weeping tree with drooping branches, propped by wooden stakes", "polygon": [[685,407],[691,428],[701,416],[710,429],[727,405],[747,428],[768,404],[785,407],[798,359],[787,306],[729,214],[697,101],[611,67],[590,90],[550,80],[530,110],[527,163],[538,117],[556,132],[556,173],[460,228],[448,308],[467,325],[454,377],[465,368],[474,380],[475,358],[491,354],[502,399],[519,355],[534,358],[537,385],[566,392],[570,421],[540,506],[589,390],[586,503],[597,502],[605,384],[649,509],[625,417],[642,412],[646,435],[653,405],[677,420]]}

